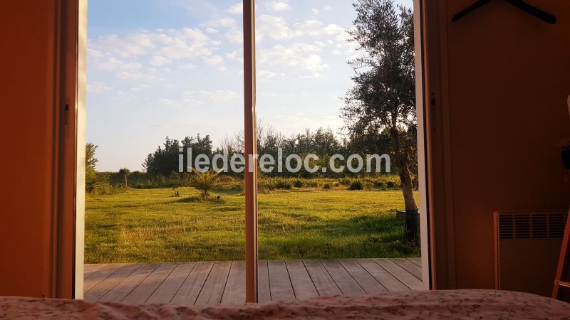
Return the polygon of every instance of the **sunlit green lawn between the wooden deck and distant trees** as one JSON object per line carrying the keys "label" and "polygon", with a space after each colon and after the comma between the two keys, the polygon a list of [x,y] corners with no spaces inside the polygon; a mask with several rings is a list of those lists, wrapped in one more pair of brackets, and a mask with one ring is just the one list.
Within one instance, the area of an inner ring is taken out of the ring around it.
{"label": "sunlit green lawn between the wooden deck and distant trees", "polygon": [[[244,196],[201,201],[194,189],[179,190],[179,198],[170,188],[88,196],[86,262],[243,260]],[[418,256],[403,244],[400,208],[401,191],[260,193],[259,258]]]}

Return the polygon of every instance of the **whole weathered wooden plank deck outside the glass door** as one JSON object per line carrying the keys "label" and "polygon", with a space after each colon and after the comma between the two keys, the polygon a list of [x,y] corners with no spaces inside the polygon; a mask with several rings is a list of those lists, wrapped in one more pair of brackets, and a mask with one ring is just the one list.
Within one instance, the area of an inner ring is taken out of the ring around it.
{"label": "whole weathered wooden plank deck outside the glass door", "polygon": [[[182,306],[245,301],[245,263],[173,262],[85,266],[89,302]],[[419,258],[259,262],[259,302],[423,289]]]}

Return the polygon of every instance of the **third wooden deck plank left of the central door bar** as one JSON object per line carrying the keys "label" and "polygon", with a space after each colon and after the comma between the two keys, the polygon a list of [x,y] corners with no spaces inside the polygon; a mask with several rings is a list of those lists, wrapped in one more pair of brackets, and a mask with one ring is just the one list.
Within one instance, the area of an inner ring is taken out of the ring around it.
{"label": "third wooden deck plank left of the central door bar", "polygon": [[198,262],[170,303],[193,306],[213,266],[214,262]]}

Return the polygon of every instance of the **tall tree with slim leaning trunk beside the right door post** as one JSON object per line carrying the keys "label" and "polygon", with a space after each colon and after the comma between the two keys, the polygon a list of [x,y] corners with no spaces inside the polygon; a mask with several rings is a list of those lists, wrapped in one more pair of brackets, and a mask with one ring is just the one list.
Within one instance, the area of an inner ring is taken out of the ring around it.
{"label": "tall tree with slim leaning trunk beside the right door post", "polygon": [[417,209],[410,172],[418,162],[413,12],[393,0],[357,0],[354,8],[349,41],[366,54],[348,62],[355,85],[346,92],[342,116],[354,148],[388,142],[405,208]]}

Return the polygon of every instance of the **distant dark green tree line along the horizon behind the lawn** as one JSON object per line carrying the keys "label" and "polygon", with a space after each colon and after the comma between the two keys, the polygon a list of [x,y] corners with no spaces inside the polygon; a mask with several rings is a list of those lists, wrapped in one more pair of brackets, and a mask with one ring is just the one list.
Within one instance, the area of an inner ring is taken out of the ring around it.
{"label": "distant dark green tree line along the horizon behind the lawn", "polygon": [[[413,135],[412,132],[409,133]],[[258,154],[270,154],[277,159],[279,149],[281,149],[283,159],[286,159],[289,154],[299,154],[301,158],[307,154],[316,154],[317,161],[313,161],[313,165],[319,167],[328,167],[331,156],[334,154],[342,154],[345,159],[350,154],[360,154],[363,159],[366,159],[366,154],[392,154],[392,144],[388,132],[378,132],[373,134],[369,132],[366,137],[361,135],[352,135],[350,140],[339,138],[334,134],[332,129],[319,128],[316,131],[306,129],[305,132],[293,134],[286,137],[281,132],[277,132],[272,127],[259,124],[257,130],[257,146]],[[196,137],[185,137],[185,139],[177,140],[166,137],[165,143],[162,146],[157,146],[157,149],[151,154],[148,154],[143,168],[147,175],[151,178],[159,176],[172,176],[178,173],[179,169],[179,155],[184,157],[185,172],[190,172],[191,169],[187,168],[187,152],[186,148],[192,148],[192,164],[198,154],[205,154],[212,159],[214,154],[223,154],[226,152],[228,157],[234,154],[244,154],[244,135],[243,133],[235,134],[233,137],[225,137],[220,142],[219,146],[214,149],[212,139],[209,135],[202,136],[197,134]],[[184,150],[180,152],[180,150]],[[410,150],[415,151],[415,150]],[[284,160],[283,160],[284,161]],[[292,161],[292,166],[295,166],[295,160]],[[346,166],[345,161],[337,161],[337,166]],[[218,167],[222,167],[222,161],[218,161]],[[375,163],[373,164],[375,167]],[[392,165],[392,171],[398,170]],[[397,171],[396,171],[397,172]],[[229,168],[229,174],[232,176],[242,176],[242,173],[237,173]],[[359,175],[363,175],[362,172]],[[328,170],[326,173],[317,171],[310,173],[305,171],[304,168],[297,173],[291,173],[286,170],[279,172],[276,168],[270,173],[264,173],[266,176],[299,176],[304,178],[313,177],[343,177],[354,176],[349,171],[340,174]]]}

